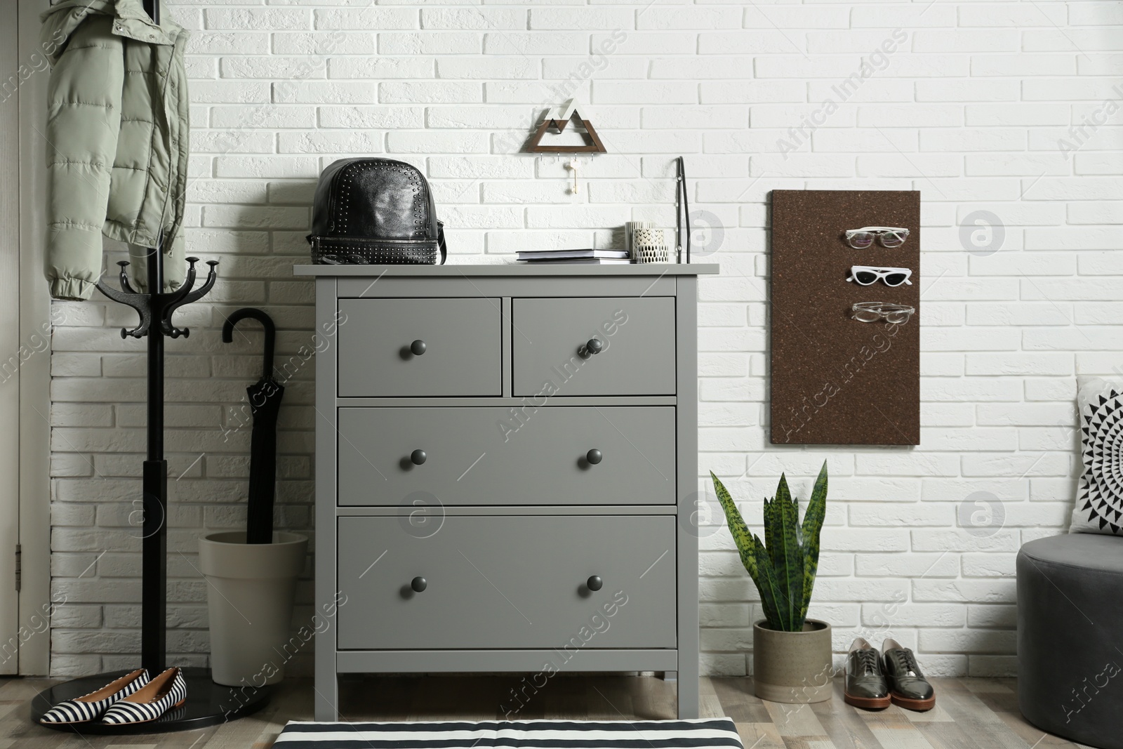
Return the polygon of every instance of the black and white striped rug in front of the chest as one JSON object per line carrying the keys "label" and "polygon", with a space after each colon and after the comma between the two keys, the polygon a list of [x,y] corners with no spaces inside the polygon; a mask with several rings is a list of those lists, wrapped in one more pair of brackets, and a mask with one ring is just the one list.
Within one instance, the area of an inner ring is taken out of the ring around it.
{"label": "black and white striped rug in front of the chest", "polygon": [[743,749],[728,718],[681,721],[445,721],[284,727],[274,749]]}

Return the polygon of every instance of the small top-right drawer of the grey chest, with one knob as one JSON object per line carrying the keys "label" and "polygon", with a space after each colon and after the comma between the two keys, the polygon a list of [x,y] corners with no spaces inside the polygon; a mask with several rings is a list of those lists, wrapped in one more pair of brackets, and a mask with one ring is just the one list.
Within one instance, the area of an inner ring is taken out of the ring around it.
{"label": "small top-right drawer of the grey chest, with one knob", "polygon": [[515,395],[675,392],[674,299],[515,299],[511,318]]}

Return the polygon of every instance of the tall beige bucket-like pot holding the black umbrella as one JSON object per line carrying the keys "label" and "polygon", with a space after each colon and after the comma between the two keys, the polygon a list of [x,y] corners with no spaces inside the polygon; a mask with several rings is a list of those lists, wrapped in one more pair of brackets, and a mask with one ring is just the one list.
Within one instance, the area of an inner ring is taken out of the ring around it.
{"label": "tall beige bucket-like pot holding the black umbrella", "polygon": [[199,539],[217,684],[262,686],[284,678],[284,665],[295,655],[285,646],[307,556],[308,539],[298,533],[275,532],[272,544],[246,544],[243,531]]}

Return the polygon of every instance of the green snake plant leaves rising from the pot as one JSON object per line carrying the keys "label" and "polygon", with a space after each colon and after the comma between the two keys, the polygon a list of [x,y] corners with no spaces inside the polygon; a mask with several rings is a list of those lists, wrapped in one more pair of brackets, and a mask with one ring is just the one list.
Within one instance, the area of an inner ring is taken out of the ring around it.
{"label": "green snake plant leaves rising from the pot", "polygon": [[811,500],[800,523],[800,503],[780,474],[776,496],[765,500],[765,540],[749,531],[733,497],[710,472],[718,501],[725,511],[729,532],[733,535],[741,564],[760,592],[760,604],[770,629],[800,632],[807,618],[811,591],[819,569],[819,531],[827,514],[827,462],[819,472]]}

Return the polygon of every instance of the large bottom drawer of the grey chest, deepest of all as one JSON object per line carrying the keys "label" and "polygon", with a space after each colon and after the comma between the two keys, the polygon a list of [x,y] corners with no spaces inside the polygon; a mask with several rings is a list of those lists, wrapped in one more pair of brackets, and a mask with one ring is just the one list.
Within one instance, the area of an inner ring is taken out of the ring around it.
{"label": "large bottom drawer of the grey chest, deepest of all", "polygon": [[672,515],[338,522],[340,649],[675,647]]}

